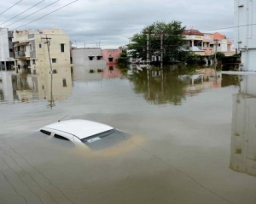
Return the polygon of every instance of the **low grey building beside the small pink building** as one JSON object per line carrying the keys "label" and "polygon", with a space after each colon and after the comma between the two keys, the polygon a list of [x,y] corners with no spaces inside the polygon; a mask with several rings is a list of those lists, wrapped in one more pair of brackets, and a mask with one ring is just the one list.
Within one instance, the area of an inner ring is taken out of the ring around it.
{"label": "low grey building beside the small pink building", "polygon": [[106,61],[102,58],[101,48],[74,48],[71,50],[73,65],[90,66],[102,68]]}

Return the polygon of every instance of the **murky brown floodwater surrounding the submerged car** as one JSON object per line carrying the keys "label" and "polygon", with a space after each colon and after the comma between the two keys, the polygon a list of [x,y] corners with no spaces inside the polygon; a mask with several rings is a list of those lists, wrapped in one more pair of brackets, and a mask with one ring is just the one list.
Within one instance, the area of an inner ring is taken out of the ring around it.
{"label": "murky brown floodwater surrounding the submerged car", "polygon": [[[255,83],[111,65],[63,69],[51,86],[2,71],[0,203],[255,204]],[[90,148],[38,132],[61,118],[123,133]]]}

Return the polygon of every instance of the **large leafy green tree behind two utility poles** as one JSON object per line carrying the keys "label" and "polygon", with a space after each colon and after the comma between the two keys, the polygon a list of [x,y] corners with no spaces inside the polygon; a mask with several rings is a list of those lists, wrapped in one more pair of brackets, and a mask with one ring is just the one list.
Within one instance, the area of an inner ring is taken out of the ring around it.
{"label": "large leafy green tree behind two utility poles", "polygon": [[160,53],[160,33],[164,34],[164,62],[172,62],[178,59],[181,48],[184,44],[183,31],[185,27],[181,22],[173,20],[170,23],[154,22],[150,26],[143,28],[143,31],[131,37],[131,42],[127,48],[131,50],[133,58],[147,59],[147,33],[149,35],[149,52],[150,55]]}

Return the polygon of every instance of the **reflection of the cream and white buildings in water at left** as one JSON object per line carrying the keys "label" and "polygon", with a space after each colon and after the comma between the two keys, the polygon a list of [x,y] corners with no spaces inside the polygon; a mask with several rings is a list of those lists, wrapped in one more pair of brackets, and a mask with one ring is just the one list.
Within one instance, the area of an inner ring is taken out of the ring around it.
{"label": "reflection of the cream and white buildings in water at left", "polygon": [[[40,68],[38,74],[28,74],[23,72],[0,72],[2,80],[2,93],[0,102],[32,102],[38,99],[47,99],[49,106],[54,105],[54,101],[64,100],[72,92],[72,77],[70,67],[65,67],[55,71],[52,75]],[[52,84],[51,84],[52,77]],[[51,97],[51,93],[53,97]]]}

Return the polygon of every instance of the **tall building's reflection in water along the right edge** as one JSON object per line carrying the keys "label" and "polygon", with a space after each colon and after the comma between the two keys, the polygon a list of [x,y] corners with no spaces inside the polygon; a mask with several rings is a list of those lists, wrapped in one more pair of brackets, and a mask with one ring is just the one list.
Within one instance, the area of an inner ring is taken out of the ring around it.
{"label": "tall building's reflection in water along the right edge", "polygon": [[256,176],[256,77],[241,76],[233,95],[230,168]]}

